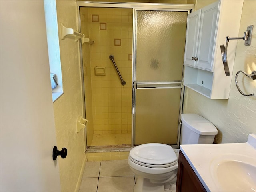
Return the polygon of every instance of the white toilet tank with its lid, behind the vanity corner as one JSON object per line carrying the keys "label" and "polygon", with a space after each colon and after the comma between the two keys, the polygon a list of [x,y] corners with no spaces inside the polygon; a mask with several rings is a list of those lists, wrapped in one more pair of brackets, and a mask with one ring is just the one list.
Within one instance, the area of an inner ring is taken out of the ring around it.
{"label": "white toilet tank with its lid, behind the vanity corner", "polygon": [[218,133],[216,127],[198,114],[181,114],[180,144],[211,144]]}

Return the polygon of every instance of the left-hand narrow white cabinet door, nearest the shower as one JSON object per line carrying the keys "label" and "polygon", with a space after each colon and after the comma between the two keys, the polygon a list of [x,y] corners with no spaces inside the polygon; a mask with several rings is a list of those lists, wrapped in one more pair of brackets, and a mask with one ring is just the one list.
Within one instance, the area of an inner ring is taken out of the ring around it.
{"label": "left-hand narrow white cabinet door, nearest the shower", "polygon": [[199,20],[201,10],[193,12],[188,15],[188,25],[186,34],[186,47],[184,53],[184,65],[195,66],[195,61],[192,57],[196,57],[196,49],[198,46],[198,34],[199,34]]}

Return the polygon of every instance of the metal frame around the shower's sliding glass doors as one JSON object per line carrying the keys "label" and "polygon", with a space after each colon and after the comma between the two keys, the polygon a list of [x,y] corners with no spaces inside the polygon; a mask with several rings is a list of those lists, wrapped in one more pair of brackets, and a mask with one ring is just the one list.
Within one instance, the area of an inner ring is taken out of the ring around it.
{"label": "metal frame around the shower's sliding glass doors", "polygon": [[[134,136],[135,136],[135,96],[136,92],[134,91],[134,80],[136,74],[136,40],[135,40],[135,24],[136,24],[136,10],[154,10],[154,11],[187,11],[188,14],[194,10],[194,4],[166,4],[166,3],[129,3],[129,2],[93,2],[93,1],[78,1],[77,2],[77,14],[78,14],[78,30],[81,31],[80,28],[80,7],[97,7],[97,8],[133,8],[133,55],[132,55],[132,144],[131,147],[134,146]],[[82,59],[82,44],[80,42],[80,63],[81,63],[81,79],[82,85],[84,85],[84,75],[83,75],[83,59]],[[184,69],[183,69],[184,71]],[[177,82],[181,86],[181,102],[180,102],[180,114],[182,113],[183,108],[183,98],[184,98],[184,86],[183,86],[183,74],[182,74],[182,82]],[[163,85],[164,86],[164,85]],[[84,95],[84,86],[82,86],[82,97],[85,98]],[[85,101],[82,101],[83,104],[83,117],[85,118]],[[174,148],[178,148],[180,144],[180,126],[178,128],[178,142],[177,145],[174,145]],[[85,132],[85,141],[86,141],[86,132]],[[85,142],[85,150],[86,150],[86,142]]]}

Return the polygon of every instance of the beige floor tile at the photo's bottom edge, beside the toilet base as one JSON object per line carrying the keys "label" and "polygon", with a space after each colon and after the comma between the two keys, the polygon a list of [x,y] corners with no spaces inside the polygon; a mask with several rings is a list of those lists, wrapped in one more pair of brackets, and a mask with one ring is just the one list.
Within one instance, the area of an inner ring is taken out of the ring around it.
{"label": "beige floor tile at the photo's bottom edge, beside the toilet base", "polygon": [[99,178],[98,192],[133,192],[134,176]]}

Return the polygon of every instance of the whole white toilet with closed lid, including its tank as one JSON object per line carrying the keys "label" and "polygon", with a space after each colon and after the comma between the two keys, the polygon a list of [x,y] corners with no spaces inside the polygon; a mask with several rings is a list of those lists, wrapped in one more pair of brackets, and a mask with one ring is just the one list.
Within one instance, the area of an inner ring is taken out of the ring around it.
{"label": "whole white toilet with closed lid, including its tank", "polygon": [[[181,114],[180,144],[211,144],[216,127],[197,114]],[[130,150],[128,164],[138,176],[134,192],[175,192],[178,150],[160,143],[147,143]]]}

